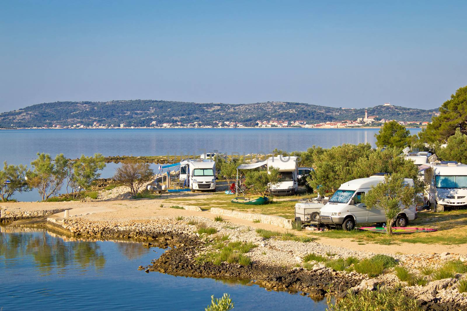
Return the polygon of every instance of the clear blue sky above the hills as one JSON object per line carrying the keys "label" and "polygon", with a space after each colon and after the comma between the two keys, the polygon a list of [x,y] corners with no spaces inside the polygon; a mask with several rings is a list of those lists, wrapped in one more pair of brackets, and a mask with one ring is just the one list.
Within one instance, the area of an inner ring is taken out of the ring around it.
{"label": "clear blue sky above the hills", "polygon": [[0,7],[0,111],[112,99],[428,109],[467,85],[467,1]]}

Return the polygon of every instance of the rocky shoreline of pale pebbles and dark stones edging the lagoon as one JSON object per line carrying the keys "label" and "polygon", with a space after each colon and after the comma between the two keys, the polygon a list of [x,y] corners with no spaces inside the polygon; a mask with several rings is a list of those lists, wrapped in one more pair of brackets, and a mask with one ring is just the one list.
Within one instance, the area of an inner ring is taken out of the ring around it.
{"label": "rocky shoreline of pale pebbles and dark stones edging the lagoon", "polygon": [[[203,222],[215,228],[217,233],[198,234],[195,223]],[[371,257],[372,253],[355,252],[343,247],[331,247],[317,242],[300,242],[265,239],[248,226],[232,226],[231,223],[213,221],[204,217],[191,216],[184,219],[158,218],[126,221],[93,220],[86,216],[72,218],[48,218],[46,226],[76,238],[131,239],[143,242],[147,247],[167,249],[158,259],[139,269],[158,271],[175,276],[209,277],[215,279],[241,280],[256,284],[268,290],[300,292],[313,299],[326,295],[344,296],[347,290],[377,290],[382,287],[401,288],[404,294],[418,299],[424,310],[466,310],[467,296],[456,289],[456,283],[466,275],[454,279],[432,281],[426,286],[407,286],[389,271],[375,278],[355,271],[335,271],[321,262],[311,262],[304,269],[302,259],[306,254],[315,253],[331,259],[356,256],[360,259]],[[251,264],[199,260],[203,255],[215,251],[216,237],[228,236],[225,243],[240,241],[256,247],[246,255]],[[332,254],[330,254],[332,253]],[[448,260],[466,258],[455,254],[392,255],[410,271],[423,267],[440,267]],[[405,285],[405,286],[404,286]]]}

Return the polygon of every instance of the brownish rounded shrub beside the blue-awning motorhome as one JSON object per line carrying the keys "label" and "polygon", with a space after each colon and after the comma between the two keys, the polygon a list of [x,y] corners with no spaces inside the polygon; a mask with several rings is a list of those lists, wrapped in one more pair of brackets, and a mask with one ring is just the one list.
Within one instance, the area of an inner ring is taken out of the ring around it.
{"label": "brownish rounded shrub beside the blue-awning motorhome", "polygon": [[130,188],[134,198],[138,195],[138,190],[142,185],[151,181],[154,171],[149,163],[127,161],[121,163],[117,168],[113,178],[121,184]]}

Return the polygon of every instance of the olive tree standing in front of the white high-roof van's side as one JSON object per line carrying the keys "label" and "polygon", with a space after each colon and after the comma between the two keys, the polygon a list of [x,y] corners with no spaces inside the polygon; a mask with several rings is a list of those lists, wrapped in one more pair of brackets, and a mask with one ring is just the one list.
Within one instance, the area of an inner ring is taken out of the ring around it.
{"label": "olive tree standing in front of the white high-roof van's side", "polygon": [[415,189],[405,184],[402,173],[396,173],[391,176],[386,175],[383,183],[371,186],[371,190],[362,197],[361,201],[368,209],[379,208],[384,211],[387,231],[392,235],[394,219],[401,211],[399,205],[409,208],[414,203],[414,198]]}

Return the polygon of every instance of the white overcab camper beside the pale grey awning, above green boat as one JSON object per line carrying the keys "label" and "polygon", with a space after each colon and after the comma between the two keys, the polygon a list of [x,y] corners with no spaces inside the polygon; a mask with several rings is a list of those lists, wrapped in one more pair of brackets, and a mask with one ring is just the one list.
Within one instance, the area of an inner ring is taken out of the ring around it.
{"label": "white overcab camper beside the pale grey awning, above green boat", "polygon": [[267,160],[269,168],[274,167],[281,172],[279,184],[271,186],[271,195],[292,195],[298,191],[297,157],[295,156],[273,156]]}

